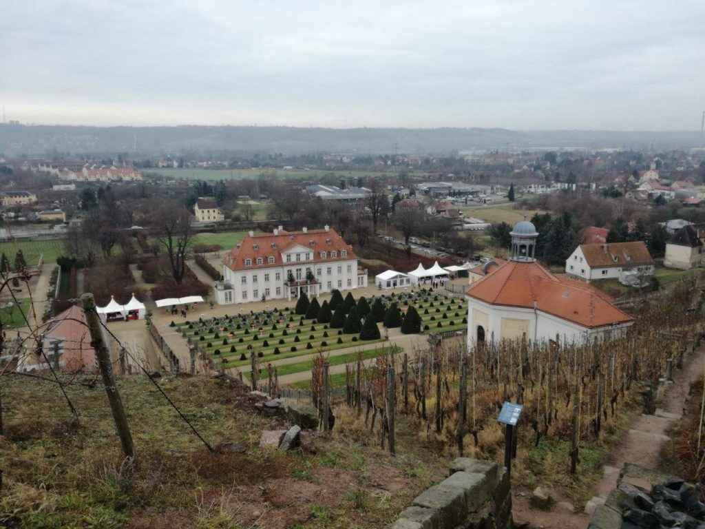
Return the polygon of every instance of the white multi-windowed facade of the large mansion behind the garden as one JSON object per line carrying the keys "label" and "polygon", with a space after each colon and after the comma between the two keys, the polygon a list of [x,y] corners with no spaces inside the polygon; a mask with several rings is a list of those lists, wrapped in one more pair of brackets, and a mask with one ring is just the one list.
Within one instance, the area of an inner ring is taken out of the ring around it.
{"label": "white multi-windowed facade of the large mansion behind the garden", "polygon": [[[283,253],[284,260],[287,259],[286,255],[296,253],[310,253],[310,249],[293,248]],[[308,272],[314,275],[315,281],[307,282]],[[293,283],[286,284],[290,277],[294,279]],[[229,305],[260,301],[263,296],[266,300],[295,299],[300,291],[308,296],[317,296],[336,288],[343,291],[365,287],[367,272],[358,269],[357,259],[327,262],[297,262],[292,259],[292,262],[283,266],[238,271],[223,265],[223,288],[216,288],[216,300],[219,305]]]}

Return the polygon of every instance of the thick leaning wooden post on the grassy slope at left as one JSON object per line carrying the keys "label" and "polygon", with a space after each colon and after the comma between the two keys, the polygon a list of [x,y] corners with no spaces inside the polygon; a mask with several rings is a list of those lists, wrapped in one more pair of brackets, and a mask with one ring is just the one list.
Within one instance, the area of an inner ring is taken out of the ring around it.
{"label": "thick leaning wooden post on the grassy slope at left", "polygon": [[115,385],[115,377],[113,375],[113,364],[110,361],[110,353],[103,341],[103,335],[100,330],[100,321],[98,313],[95,310],[95,300],[92,293],[85,293],[81,296],[83,312],[85,314],[88,331],[90,332],[90,344],[98,358],[98,367],[100,374],[103,377],[105,392],[108,394],[110,410],[113,413],[115,420],[115,428],[118,430],[118,437],[123,445],[123,453],[126,457],[135,461],[135,446],[133,445],[132,434],[130,433],[130,425],[128,418],[125,415],[123,401],[120,398],[120,393]]}

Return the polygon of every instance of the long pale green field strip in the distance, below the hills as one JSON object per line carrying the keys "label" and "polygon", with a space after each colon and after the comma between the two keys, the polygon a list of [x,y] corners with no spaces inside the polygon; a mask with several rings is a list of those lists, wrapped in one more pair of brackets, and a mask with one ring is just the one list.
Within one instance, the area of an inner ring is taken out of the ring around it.
{"label": "long pale green field strip in the distance, below the hills", "polygon": [[373,171],[325,171],[322,169],[144,169],[146,175],[160,174],[169,178],[186,178],[188,180],[238,180],[242,178],[277,178],[281,180],[317,181],[324,176],[333,178],[357,178],[375,176],[384,173]]}

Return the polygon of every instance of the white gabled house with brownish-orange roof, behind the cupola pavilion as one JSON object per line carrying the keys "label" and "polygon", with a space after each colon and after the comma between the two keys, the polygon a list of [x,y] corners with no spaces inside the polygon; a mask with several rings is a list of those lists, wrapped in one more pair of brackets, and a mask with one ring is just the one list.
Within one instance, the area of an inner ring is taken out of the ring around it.
{"label": "white gabled house with brownish-orange roof, behind the cupola pavilion", "polygon": [[618,279],[631,284],[654,275],[654,259],[644,241],[581,244],[565,261],[565,273],[584,281]]}

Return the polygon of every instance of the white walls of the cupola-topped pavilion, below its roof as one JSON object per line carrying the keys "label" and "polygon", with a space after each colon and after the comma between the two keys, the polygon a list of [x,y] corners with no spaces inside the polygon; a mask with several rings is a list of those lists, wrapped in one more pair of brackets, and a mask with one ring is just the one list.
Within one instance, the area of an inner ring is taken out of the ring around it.
{"label": "white walls of the cupola-topped pavilion, below its roof", "polygon": [[524,337],[527,341],[555,340],[562,343],[583,343],[586,340],[613,339],[626,332],[629,324],[615,324],[590,329],[562,318],[529,308],[490,305],[467,296],[467,346],[477,343],[498,343],[502,339]]}

